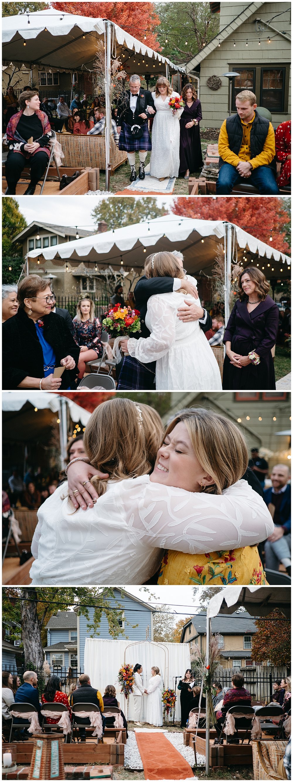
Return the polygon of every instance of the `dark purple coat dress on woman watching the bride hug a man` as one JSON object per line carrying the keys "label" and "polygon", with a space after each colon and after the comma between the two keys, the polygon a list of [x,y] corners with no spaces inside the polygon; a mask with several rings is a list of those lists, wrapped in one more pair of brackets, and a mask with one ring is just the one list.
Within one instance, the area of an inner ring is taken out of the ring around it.
{"label": "dark purple coat dress on woman watching the bride hug a man", "polygon": [[230,364],[230,358],[225,356],[224,391],[276,389],[271,349],[276,343],[278,323],[279,310],[270,296],[266,296],[250,313],[247,309],[247,297],[234,304],[223,335],[223,343],[230,342],[231,350],[241,356],[248,356],[251,350],[255,350],[260,357],[260,364],[248,364],[247,367],[238,369]]}

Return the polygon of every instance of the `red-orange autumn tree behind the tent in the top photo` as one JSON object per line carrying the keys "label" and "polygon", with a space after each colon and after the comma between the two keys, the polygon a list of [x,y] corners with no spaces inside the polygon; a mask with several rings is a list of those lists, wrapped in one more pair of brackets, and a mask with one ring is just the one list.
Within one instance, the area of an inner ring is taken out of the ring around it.
{"label": "red-orange autumn tree behind the tent in the top photo", "polygon": [[[152,2],[52,2],[58,11],[91,16],[95,19],[109,19],[115,22],[138,41],[160,52],[157,40],[159,16]],[[145,41],[146,36],[146,41]]]}

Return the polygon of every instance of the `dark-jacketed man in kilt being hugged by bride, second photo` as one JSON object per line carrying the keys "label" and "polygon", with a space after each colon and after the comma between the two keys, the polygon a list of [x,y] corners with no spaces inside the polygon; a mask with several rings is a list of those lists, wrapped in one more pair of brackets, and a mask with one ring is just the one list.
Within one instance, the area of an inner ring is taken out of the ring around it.
{"label": "dark-jacketed man in kilt being hugged by bride, second photo", "polygon": [[[186,278],[146,278],[145,275],[141,277],[134,288],[135,307],[140,311],[141,332],[134,332],[134,334],[131,334],[131,337],[134,337],[135,339],[144,337],[147,339],[150,335],[150,332],[145,325],[145,315],[148,309],[148,299],[150,299],[151,296],[155,296],[156,293],[170,293],[179,290],[180,288],[184,288],[184,291],[190,293],[195,299],[198,299],[198,292],[195,285],[196,280],[194,280],[192,284],[190,279]],[[186,307],[180,310],[180,312],[178,311],[178,315],[179,314],[182,321],[199,321],[200,328],[202,328],[203,332],[212,328],[212,318],[203,307],[201,311],[195,304],[186,303]],[[121,346],[123,346],[122,343]],[[148,364],[141,364],[141,361],[138,361],[137,358],[124,356],[116,390],[155,391],[155,361]]]}

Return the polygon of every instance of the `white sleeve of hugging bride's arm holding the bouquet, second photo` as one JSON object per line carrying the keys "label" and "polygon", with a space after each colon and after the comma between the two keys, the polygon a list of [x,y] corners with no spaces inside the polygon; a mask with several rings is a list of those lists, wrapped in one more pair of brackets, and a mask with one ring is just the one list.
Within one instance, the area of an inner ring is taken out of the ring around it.
{"label": "white sleeve of hugging bride's arm holding the bouquet, second photo", "polygon": [[175,342],[176,314],[177,310],[171,307],[164,296],[152,296],[148,301],[151,335],[147,339],[128,339],[127,350],[130,356],[147,364],[165,356]]}

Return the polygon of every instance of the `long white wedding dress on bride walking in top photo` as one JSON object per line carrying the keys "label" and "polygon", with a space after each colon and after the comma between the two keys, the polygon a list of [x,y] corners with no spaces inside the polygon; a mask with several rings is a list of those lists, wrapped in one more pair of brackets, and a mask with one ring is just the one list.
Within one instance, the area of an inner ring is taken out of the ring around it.
{"label": "long white wedding dress on bride walking in top photo", "polygon": [[166,100],[155,97],[156,114],[152,124],[152,152],[149,161],[149,170],[152,177],[177,177],[179,174],[179,144],[180,144],[180,116],[184,109],[179,109],[175,115],[170,109],[170,98],[180,98],[179,92],[166,95]]}

